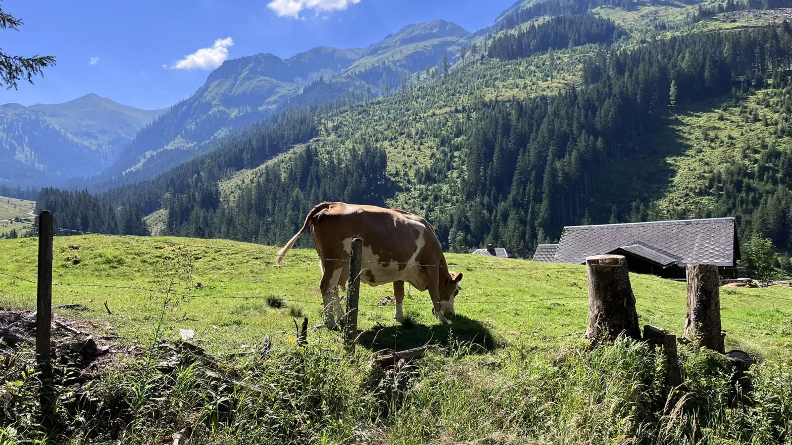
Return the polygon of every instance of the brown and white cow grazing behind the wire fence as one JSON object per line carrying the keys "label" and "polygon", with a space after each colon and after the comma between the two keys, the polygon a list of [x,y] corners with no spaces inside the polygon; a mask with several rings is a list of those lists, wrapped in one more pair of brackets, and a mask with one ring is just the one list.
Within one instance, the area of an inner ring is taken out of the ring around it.
{"label": "brown and white cow grazing behind the wire fence", "polygon": [[[360,281],[371,286],[394,283],[396,319],[404,321],[404,283],[429,291],[435,317],[447,323],[453,315],[462,273],[448,272],[434,228],[423,218],[406,211],[347,203],[321,203],[310,211],[303,228],[280,249],[276,264],[283,261],[297,238],[310,227],[322,268],[322,300],[325,324],[336,328],[343,322],[337,288],[346,288],[352,239],[363,239]],[[335,312],[333,318],[332,310]]]}

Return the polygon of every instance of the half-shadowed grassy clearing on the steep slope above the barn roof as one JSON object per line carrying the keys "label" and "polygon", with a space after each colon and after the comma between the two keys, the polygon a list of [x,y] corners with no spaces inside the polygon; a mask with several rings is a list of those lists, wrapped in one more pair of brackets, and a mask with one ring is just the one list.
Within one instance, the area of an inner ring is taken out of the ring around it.
{"label": "half-shadowed grassy clearing on the steep slope above the barn roof", "polygon": [[[661,210],[681,211],[692,217],[696,209],[706,209],[714,202],[707,178],[721,167],[736,159],[756,164],[762,154],[760,141],[775,141],[776,146],[792,143],[782,137],[776,140],[775,124],[780,116],[777,100],[771,99],[770,107],[763,105],[763,97],[770,90],[752,94],[740,104],[756,116],[767,116],[769,122],[747,119],[741,115],[741,105],[727,105],[722,109],[725,98],[707,101],[698,105],[680,107],[675,112],[658,118],[658,125],[647,129],[637,146],[650,147],[640,153],[627,154],[629,162],[614,165],[610,177],[611,187],[616,193],[632,184],[635,192],[624,195],[617,203],[629,209],[630,200],[644,202],[657,200]],[[754,149],[743,159],[742,147]],[[634,184],[639,184],[635,187]]]}

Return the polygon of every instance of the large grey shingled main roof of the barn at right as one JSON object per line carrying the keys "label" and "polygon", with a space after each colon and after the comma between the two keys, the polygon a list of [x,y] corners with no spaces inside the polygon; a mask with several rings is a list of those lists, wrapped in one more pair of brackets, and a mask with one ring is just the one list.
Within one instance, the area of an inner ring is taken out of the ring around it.
{"label": "large grey shingled main roof of the barn at right", "polygon": [[661,267],[733,267],[740,259],[737,222],[714,218],[564,227],[554,260],[583,264],[586,257],[604,253],[628,253]]}

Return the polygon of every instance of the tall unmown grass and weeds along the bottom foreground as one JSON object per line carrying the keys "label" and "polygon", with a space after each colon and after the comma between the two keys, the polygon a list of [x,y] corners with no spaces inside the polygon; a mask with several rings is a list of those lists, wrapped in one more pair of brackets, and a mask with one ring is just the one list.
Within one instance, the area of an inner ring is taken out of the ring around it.
{"label": "tall unmown grass and weeds along the bottom foreground", "polygon": [[[367,354],[293,348],[217,361],[151,351],[61,388],[71,443],[790,443],[792,362],[767,359],[740,394],[720,357],[682,348],[662,387],[645,344],[478,354],[455,344],[383,371]],[[4,359],[3,443],[42,439],[29,352]],[[25,414],[22,414],[25,413]]]}

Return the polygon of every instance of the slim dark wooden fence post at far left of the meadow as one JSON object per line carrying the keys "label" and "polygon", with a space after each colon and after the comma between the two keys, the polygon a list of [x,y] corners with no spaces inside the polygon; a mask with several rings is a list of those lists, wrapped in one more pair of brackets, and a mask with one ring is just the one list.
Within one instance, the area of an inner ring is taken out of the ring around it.
{"label": "slim dark wooden fence post at far left of the meadow", "polygon": [[36,366],[41,379],[41,417],[44,425],[55,420],[55,383],[52,380],[50,335],[52,323],[52,214],[39,215],[39,268],[36,285]]}

